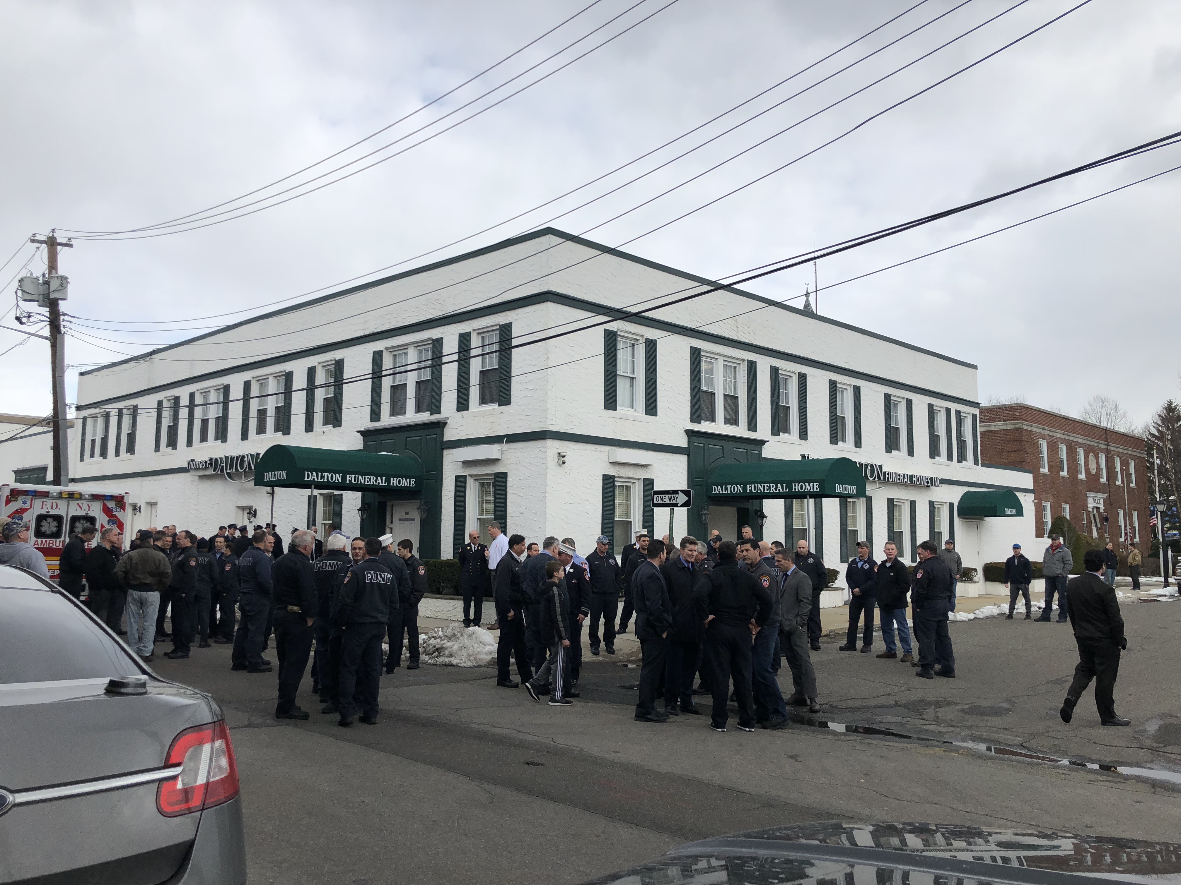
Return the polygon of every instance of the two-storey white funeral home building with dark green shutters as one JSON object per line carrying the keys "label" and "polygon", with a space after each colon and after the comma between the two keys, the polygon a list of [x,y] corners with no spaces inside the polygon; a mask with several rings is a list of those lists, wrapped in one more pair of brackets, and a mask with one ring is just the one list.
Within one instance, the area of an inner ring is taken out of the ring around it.
{"label": "two-storey white funeral home building with dark green shutters", "polygon": [[[131,490],[137,525],[208,532],[274,507],[283,533],[389,529],[426,557],[491,519],[620,550],[668,531],[653,489],[693,492],[677,537],[746,523],[833,566],[859,537],[907,560],[954,538],[971,565],[1032,542],[1029,472],[980,464],[974,366],[737,289],[664,306],[709,287],[547,229],[282,308],[84,373],[72,481]],[[311,489],[254,484],[274,445],[337,453],[307,455],[314,513]],[[372,485],[358,451],[409,455],[412,481]],[[860,465],[837,497],[776,485],[811,470],[779,461],[835,458]],[[986,494],[965,510],[966,492]],[[1020,514],[964,518],[973,506]]]}

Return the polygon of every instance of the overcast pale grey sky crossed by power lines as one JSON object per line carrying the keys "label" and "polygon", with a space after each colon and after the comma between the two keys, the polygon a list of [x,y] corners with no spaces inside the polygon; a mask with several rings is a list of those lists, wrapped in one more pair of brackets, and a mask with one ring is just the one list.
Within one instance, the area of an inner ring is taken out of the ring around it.
{"label": "overcast pale grey sky crossed by power lines", "polygon": [[[141,353],[249,315],[220,319],[218,312],[321,287],[331,291],[334,283],[497,224],[705,123],[916,1],[676,0],[521,94],[339,184],[193,232],[78,241],[63,250],[61,270],[71,280],[66,310],[91,317],[79,333],[106,340],[72,336],[67,362],[94,365]],[[1018,4],[968,0],[948,12],[961,1],[927,0],[624,172],[398,269],[539,227],[942,13],[948,14],[873,58],[553,224],[720,277],[803,253],[814,237],[821,245],[843,241],[1181,130],[1175,0],[1091,0],[840,142],[642,236],[1078,2],[1027,0],[717,171],[608,221]],[[141,228],[267,185],[458,86],[588,2],[8,0],[0,5],[0,33],[8,38],[0,53],[6,122],[0,262],[33,231]],[[492,97],[372,159],[411,145],[668,0],[645,0],[625,12],[635,2],[600,0],[430,109],[249,199],[407,136],[625,13]],[[981,400],[1020,395],[1077,414],[1102,393],[1117,398],[1138,424],[1179,395],[1181,171],[978,243],[824,287],[1176,165],[1181,146],[1167,148],[827,258],[817,273],[820,312],[979,365]],[[0,283],[32,250],[0,273]],[[44,270],[41,257],[30,267]],[[787,299],[811,278],[813,269],[801,268],[750,288]],[[13,288],[0,296],[4,326],[14,324]],[[205,319],[157,328],[119,324],[190,317]],[[97,319],[110,322],[92,322]],[[93,328],[99,324],[105,329]],[[0,350],[22,337],[0,330]],[[840,354],[831,356],[840,362]],[[13,374],[17,367],[27,371]],[[17,347],[0,356],[0,371],[6,379],[0,411],[48,413],[47,345],[31,340]],[[76,379],[71,369],[71,401]]]}

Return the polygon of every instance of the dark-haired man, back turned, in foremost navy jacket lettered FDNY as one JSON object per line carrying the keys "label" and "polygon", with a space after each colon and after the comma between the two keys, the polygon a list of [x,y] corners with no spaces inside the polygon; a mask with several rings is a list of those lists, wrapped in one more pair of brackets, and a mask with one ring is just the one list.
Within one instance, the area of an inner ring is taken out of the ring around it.
{"label": "dark-haired man, back turned, in foremost navy jacket lettered FDNY", "polygon": [[[361,722],[377,725],[377,697],[381,678],[381,637],[397,604],[393,572],[378,559],[381,542],[365,539],[365,559],[345,572],[337,588],[334,627],[341,629],[340,677],[337,686],[337,725],[353,723],[360,706]],[[339,578],[338,578],[339,579]],[[355,699],[360,699],[360,703]],[[331,710],[325,707],[326,713]]]}

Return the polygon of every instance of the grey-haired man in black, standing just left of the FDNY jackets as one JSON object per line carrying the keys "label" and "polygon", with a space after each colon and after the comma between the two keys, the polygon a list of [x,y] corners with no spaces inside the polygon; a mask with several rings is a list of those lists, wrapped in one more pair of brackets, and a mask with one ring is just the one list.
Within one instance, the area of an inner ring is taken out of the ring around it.
{"label": "grey-haired man in black, standing just left of the FDNY jackets", "polygon": [[320,608],[312,569],[315,536],[307,529],[292,535],[287,553],[275,560],[274,579],[275,657],[279,661],[279,702],[275,719],[307,719],[295,703],[299,683],[307,670],[315,634],[312,624]]}

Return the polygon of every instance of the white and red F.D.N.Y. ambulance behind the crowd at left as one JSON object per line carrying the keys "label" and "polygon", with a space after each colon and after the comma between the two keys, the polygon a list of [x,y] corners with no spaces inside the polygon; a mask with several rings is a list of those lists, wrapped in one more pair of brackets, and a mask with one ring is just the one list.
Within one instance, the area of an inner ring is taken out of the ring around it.
{"label": "white and red F.D.N.Y. ambulance behind the crowd at left", "polygon": [[[9,519],[20,519],[32,526],[28,543],[37,548],[50,566],[50,577],[57,581],[61,549],[78,530],[90,523],[102,531],[116,526],[126,533],[128,492],[99,489],[58,489],[48,485],[0,485],[0,507]],[[97,542],[98,538],[94,538]],[[87,549],[93,545],[87,545]],[[124,539],[126,543],[126,539]]]}

